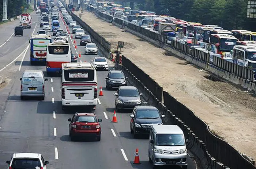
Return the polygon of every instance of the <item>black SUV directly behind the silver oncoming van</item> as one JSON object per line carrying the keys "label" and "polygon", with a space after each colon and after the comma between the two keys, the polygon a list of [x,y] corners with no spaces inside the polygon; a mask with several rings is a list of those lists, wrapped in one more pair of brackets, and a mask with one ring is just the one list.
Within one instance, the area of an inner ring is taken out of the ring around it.
{"label": "black SUV directly behind the silver oncoming van", "polygon": [[162,125],[165,115],[154,106],[135,106],[130,117],[130,130],[136,138],[137,134],[148,134],[152,125]]}

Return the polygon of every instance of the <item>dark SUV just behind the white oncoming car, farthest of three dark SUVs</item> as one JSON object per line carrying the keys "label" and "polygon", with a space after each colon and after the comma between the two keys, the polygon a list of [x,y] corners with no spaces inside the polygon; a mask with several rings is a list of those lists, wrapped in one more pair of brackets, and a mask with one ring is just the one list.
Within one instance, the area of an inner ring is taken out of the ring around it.
{"label": "dark SUV just behind the white oncoming car, farthest of three dark SUVs", "polygon": [[126,86],[127,81],[124,73],[121,70],[110,70],[106,77],[106,88],[107,90],[112,87]]}

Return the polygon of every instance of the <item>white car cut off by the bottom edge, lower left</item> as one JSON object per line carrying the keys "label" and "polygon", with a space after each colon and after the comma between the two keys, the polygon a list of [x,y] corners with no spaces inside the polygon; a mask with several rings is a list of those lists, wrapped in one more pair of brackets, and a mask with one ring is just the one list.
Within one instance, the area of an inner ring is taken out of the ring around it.
{"label": "white car cut off by the bottom edge, lower left", "polygon": [[33,168],[47,169],[49,161],[44,161],[42,154],[38,153],[14,153],[11,160],[6,161],[8,168]]}

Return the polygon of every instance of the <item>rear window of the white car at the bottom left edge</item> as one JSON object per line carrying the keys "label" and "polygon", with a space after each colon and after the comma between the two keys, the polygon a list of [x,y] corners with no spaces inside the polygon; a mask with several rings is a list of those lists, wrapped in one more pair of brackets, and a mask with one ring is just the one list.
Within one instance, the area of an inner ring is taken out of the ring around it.
{"label": "rear window of the white car at the bottom left edge", "polygon": [[35,169],[41,168],[41,162],[39,159],[14,159],[11,167],[13,169]]}

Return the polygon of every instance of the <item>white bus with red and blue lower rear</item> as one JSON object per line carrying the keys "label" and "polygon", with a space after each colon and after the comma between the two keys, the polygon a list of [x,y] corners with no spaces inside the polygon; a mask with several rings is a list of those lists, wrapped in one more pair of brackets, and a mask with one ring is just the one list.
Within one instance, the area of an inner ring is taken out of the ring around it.
{"label": "white bus with red and blue lower rear", "polygon": [[61,64],[71,62],[71,49],[69,43],[49,43],[46,55],[46,73],[60,73]]}

